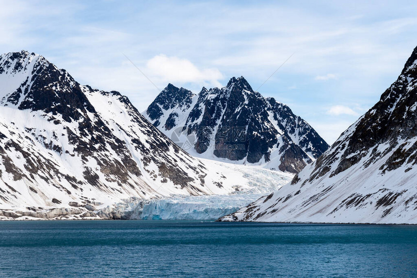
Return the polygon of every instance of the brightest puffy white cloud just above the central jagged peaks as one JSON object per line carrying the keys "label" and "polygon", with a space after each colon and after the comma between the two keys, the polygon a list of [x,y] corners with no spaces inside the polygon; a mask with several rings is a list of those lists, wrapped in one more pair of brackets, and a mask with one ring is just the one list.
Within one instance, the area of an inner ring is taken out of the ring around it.
{"label": "brightest puffy white cloud just above the central jagged peaks", "polygon": [[146,63],[147,72],[166,82],[210,83],[220,85],[222,73],[216,68],[199,69],[187,59],[164,54],[157,55]]}

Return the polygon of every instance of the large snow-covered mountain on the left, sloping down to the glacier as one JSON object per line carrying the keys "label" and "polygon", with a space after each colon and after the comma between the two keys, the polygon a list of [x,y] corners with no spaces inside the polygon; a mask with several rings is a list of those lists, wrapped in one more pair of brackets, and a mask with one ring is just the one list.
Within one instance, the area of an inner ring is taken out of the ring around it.
{"label": "large snow-covered mountain on the left, sloping down to the glacier", "polygon": [[112,208],[128,200],[262,191],[232,174],[177,147],[120,93],[34,53],[0,56],[0,218],[119,217]]}

